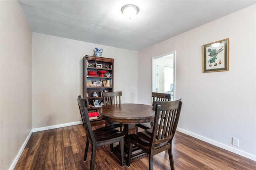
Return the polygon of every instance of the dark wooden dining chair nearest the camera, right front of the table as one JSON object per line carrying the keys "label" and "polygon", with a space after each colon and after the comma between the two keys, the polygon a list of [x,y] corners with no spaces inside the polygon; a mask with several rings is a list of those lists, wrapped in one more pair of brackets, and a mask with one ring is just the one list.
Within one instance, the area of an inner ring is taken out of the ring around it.
{"label": "dark wooden dining chair nearest the camera, right front of the table", "polygon": [[[176,101],[154,102],[153,110],[155,111],[155,118],[153,129],[147,129],[128,135],[128,167],[131,163],[132,146],[135,145],[148,153],[150,170],[153,170],[154,155],[168,150],[171,170],[174,170],[172,139],[178,125],[181,107],[181,99]],[[160,123],[158,124],[159,118]]]}

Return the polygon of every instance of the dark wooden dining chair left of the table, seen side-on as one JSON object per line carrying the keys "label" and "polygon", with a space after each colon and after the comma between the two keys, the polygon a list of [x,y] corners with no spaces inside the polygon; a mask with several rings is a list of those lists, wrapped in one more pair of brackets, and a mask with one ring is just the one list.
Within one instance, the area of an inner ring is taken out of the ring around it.
{"label": "dark wooden dining chair left of the table, seen side-on", "polygon": [[92,130],[87,110],[87,107],[89,106],[88,99],[83,99],[81,98],[81,96],[78,96],[77,100],[80,113],[83,119],[84,128],[86,131],[86,147],[84,150],[84,161],[86,161],[87,158],[89,143],[92,147],[90,170],[94,169],[96,148],[104,145],[112,145],[112,147],[110,147],[110,151],[113,152],[113,143],[117,142],[119,142],[121,152],[120,162],[122,167],[124,167],[124,135],[112,125]]}

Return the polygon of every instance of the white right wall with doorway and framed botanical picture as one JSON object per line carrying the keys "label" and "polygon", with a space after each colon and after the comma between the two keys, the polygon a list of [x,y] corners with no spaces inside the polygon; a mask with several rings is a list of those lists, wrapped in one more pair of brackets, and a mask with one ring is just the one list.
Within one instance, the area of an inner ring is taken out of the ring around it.
{"label": "white right wall with doorway and framed botanical picture", "polygon": [[[226,38],[229,71],[202,73],[202,45]],[[146,65],[138,67],[138,102],[151,103],[152,57],[176,51],[179,130],[256,160],[255,47],[256,5],[144,49],[138,53],[138,66]]]}

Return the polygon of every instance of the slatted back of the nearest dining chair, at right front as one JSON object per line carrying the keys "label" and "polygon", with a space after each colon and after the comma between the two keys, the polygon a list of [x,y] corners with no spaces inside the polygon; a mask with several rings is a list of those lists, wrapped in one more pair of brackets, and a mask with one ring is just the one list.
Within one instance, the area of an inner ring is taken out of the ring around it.
{"label": "slatted back of the nearest dining chair, at right front", "polygon": [[[156,111],[153,127],[152,147],[155,144],[171,141],[177,129],[182,107],[181,99],[175,101],[155,101]],[[161,114],[161,115],[160,115]],[[160,121],[158,122],[158,119]]]}

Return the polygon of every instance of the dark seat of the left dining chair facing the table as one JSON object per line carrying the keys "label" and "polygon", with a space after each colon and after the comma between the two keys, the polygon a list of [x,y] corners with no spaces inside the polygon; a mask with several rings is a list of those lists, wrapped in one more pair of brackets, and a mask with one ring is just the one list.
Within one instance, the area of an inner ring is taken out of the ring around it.
{"label": "dark seat of the left dining chair facing the table", "polygon": [[96,129],[93,131],[93,134],[94,134],[96,143],[113,140],[115,138],[118,139],[122,136],[124,137],[124,135],[112,125]]}

